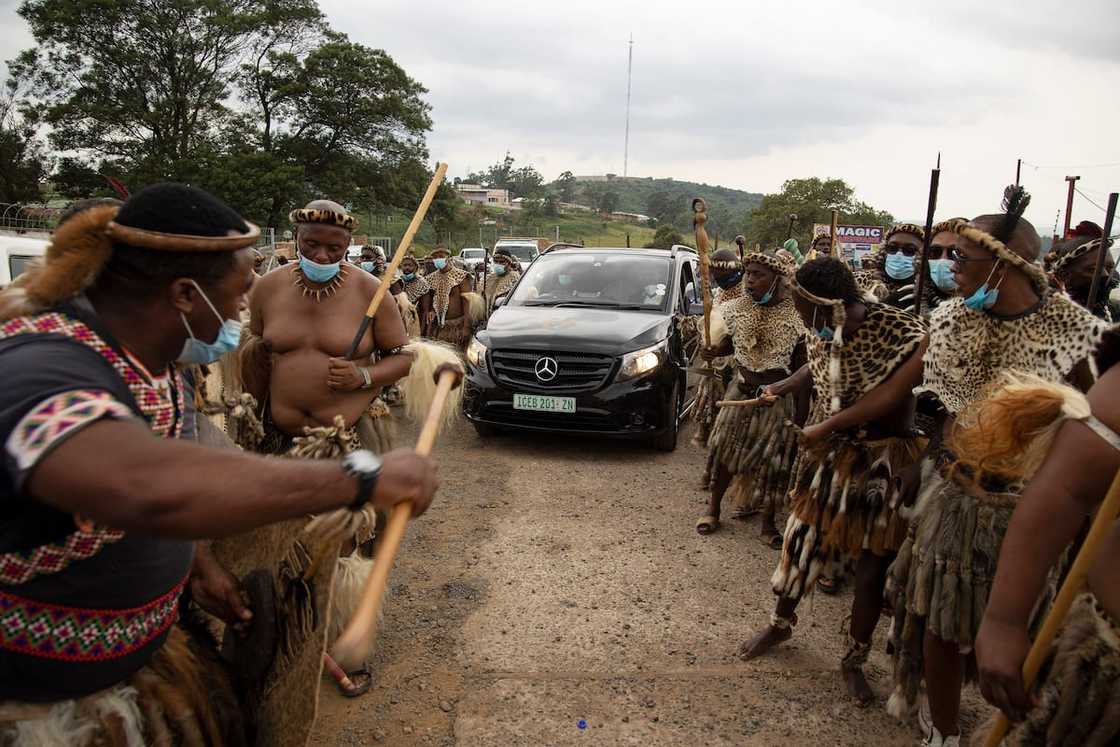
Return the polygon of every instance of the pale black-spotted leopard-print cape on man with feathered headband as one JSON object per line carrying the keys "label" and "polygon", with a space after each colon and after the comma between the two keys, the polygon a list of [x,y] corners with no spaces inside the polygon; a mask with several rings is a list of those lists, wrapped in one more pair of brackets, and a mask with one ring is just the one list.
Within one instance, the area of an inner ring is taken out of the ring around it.
{"label": "pale black-spotted leopard-print cape on man with feathered headband", "polygon": [[987,395],[1005,371],[1033,373],[1062,382],[1090,361],[1108,323],[1061,293],[1016,319],[973,311],[953,298],[930,315],[930,348],[916,394],[932,392],[952,414]]}

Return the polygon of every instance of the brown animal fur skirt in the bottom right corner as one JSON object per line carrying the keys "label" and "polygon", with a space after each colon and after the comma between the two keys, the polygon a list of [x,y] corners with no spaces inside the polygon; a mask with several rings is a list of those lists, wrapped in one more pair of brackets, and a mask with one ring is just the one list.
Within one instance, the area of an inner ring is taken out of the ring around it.
{"label": "brown animal fur skirt in the bottom right corner", "polygon": [[1074,601],[1035,688],[1038,704],[1015,725],[1010,747],[1120,743],[1120,626],[1092,594]]}

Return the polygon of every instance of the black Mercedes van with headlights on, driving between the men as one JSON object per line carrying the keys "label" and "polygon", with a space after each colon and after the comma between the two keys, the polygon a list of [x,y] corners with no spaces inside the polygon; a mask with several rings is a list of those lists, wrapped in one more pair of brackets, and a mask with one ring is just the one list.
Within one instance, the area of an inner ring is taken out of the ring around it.
{"label": "black Mercedes van with headlights on, driving between the men", "polygon": [[703,314],[697,263],[687,246],[541,255],[470,340],[467,419],[483,437],[601,435],[673,450],[694,394],[696,340],[679,320]]}

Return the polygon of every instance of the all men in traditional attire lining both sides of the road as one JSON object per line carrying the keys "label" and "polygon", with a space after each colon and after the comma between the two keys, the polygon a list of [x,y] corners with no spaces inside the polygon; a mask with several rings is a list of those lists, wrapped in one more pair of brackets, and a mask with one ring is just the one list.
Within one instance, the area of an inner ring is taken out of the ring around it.
{"label": "all men in traditional attire lining both sides of the road", "polygon": [[[1110,244],[1082,225],[1042,258],[1028,199],[934,226],[927,256],[922,226],[894,226],[855,272],[828,236],[711,258],[701,355],[726,393],[698,407],[696,529],[718,531],[730,495],[778,552],[774,613],[740,655],[850,578],[846,687],[875,700],[887,609],[888,707],[927,745],[959,744],[978,673],[1008,744],[1120,738],[1120,532],[1044,678],[1021,679],[1120,467],[1111,258],[1090,298]],[[520,265],[498,252],[476,284],[438,246],[390,278],[377,252],[345,261],[343,206],[290,218],[295,261],[258,274],[260,231],[205,192],[86,200],[0,292],[0,744],[304,744],[324,669],[368,690],[332,643],[386,512],[438,487],[395,448],[391,405],[427,411]],[[370,311],[383,282],[395,302]]]}

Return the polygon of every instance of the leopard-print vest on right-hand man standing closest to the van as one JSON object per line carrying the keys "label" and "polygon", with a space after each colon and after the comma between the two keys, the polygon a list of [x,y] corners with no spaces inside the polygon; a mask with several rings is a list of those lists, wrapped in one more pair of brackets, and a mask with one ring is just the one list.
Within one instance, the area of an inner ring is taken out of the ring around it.
{"label": "leopard-print vest on right-hand man standing closest to the van", "polygon": [[790,372],[793,348],[805,336],[805,324],[786,296],[774,306],[759,306],[749,296],[720,305],[735,344],[736,362],[748,371]]}

